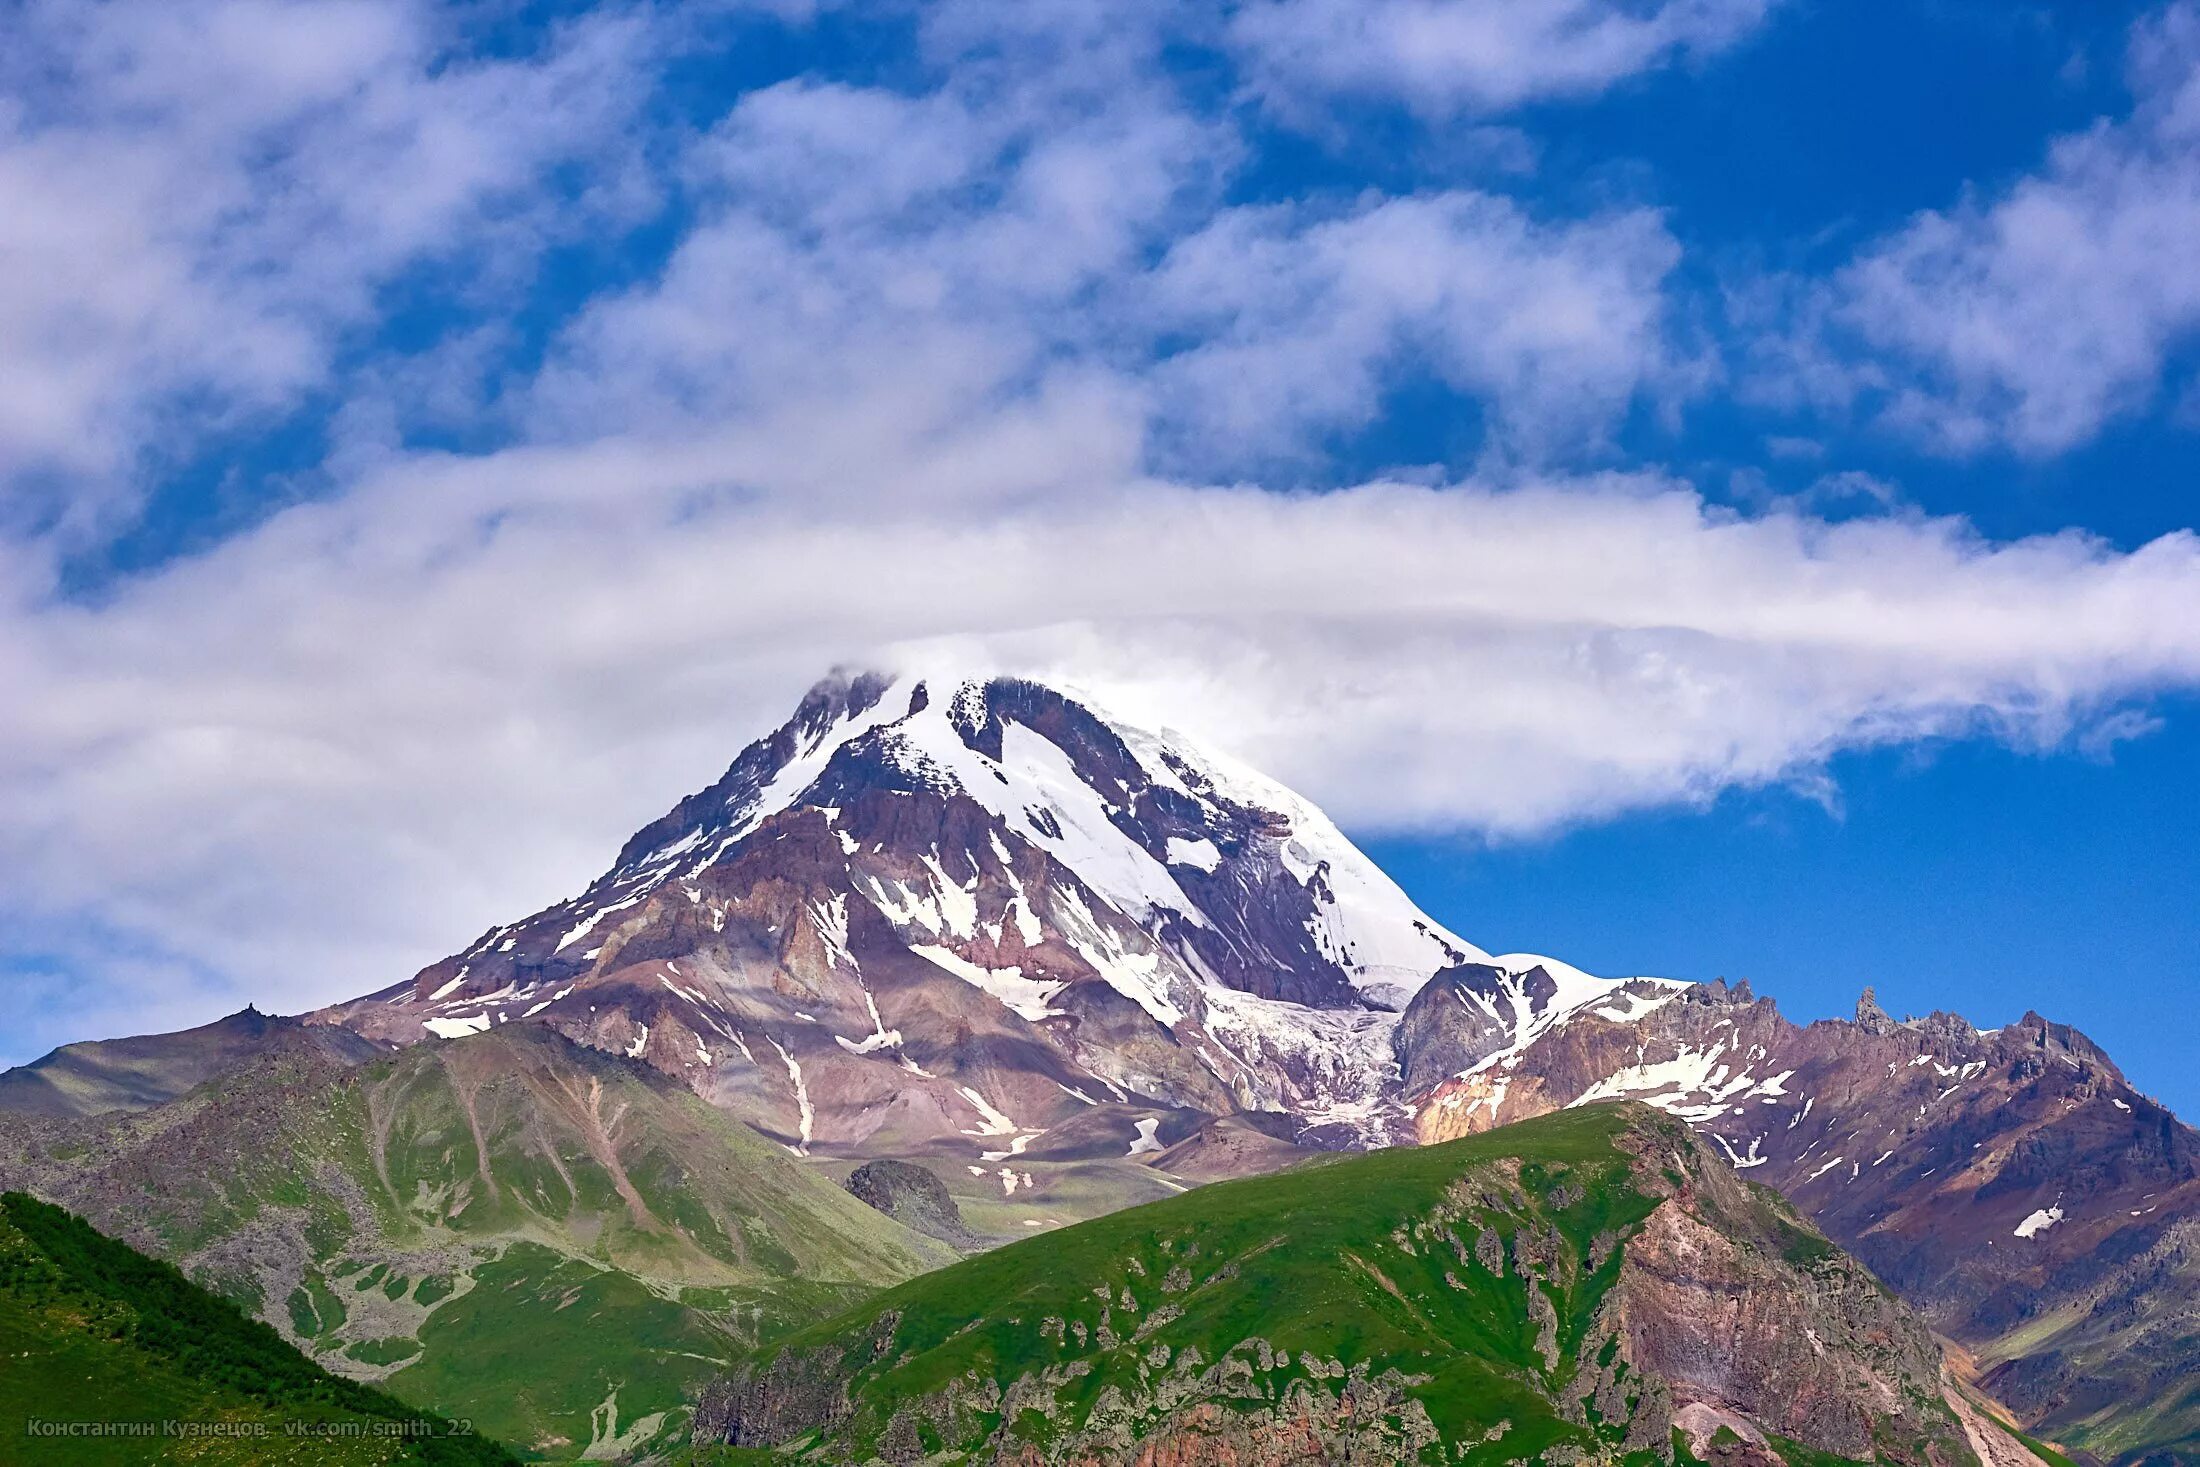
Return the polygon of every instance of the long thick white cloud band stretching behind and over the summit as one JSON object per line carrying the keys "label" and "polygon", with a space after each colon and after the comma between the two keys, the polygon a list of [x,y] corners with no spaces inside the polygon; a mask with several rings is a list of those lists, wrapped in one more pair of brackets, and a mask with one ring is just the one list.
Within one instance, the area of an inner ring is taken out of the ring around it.
{"label": "long thick white cloud band stretching behind and over the summit", "polygon": [[[871,497],[823,508],[748,431],[392,462],[97,607],[18,570],[11,924],[262,1003],[363,992],[576,889],[832,662],[939,640],[1360,827],[1496,834],[1929,735],[2094,748],[2200,682],[2189,534],[1736,519],[1641,477],[1065,497],[1074,464],[1041,462],[1023,508],[902,499],[1032,442],[1012,413],[878,440]],[[748,493],[695,493],[719,479]]]}

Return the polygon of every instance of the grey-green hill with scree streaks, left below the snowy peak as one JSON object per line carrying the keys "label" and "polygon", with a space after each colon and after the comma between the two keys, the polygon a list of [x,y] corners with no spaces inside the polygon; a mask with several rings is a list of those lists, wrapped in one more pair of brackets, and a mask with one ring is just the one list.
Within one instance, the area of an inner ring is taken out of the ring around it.
{"label": "grey-green hill with scree streaks, left below the snowy peak", "polygon": [[537,1025],[15,1119],[0,1185],[174,1260],[330,1370],[548,1456],[638,1449],[744,1346],[955,1256]]}

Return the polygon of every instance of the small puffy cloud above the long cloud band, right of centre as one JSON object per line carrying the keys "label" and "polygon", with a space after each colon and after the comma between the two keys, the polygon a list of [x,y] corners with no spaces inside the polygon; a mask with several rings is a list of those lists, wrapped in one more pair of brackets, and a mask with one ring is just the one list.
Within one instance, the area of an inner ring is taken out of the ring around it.
{"label": "small puffy cloud above the long cloud band, right of centre", "polygon": [[1692,376],[1663,299],[1681,249],[1654,211],[1542,224],[1454,191],[1309,213],[1225,211],[1155,277],[1155,319],[1192,341],[1157,394],[1195,453],[1362,427],[1430,372],[1487,402],[1498,444],[1577,451]]}

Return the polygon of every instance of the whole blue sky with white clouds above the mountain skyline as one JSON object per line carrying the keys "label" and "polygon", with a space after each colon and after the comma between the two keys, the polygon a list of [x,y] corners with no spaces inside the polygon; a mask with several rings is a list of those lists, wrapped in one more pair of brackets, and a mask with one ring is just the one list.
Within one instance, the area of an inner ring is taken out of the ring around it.
{"label": "whole blue sky with white clouds above the mountain skyline", "polygon": [[2193,4],[20,20],[0,1058],[403,977],[948,644],[1485,946],[2200,1111]]}

